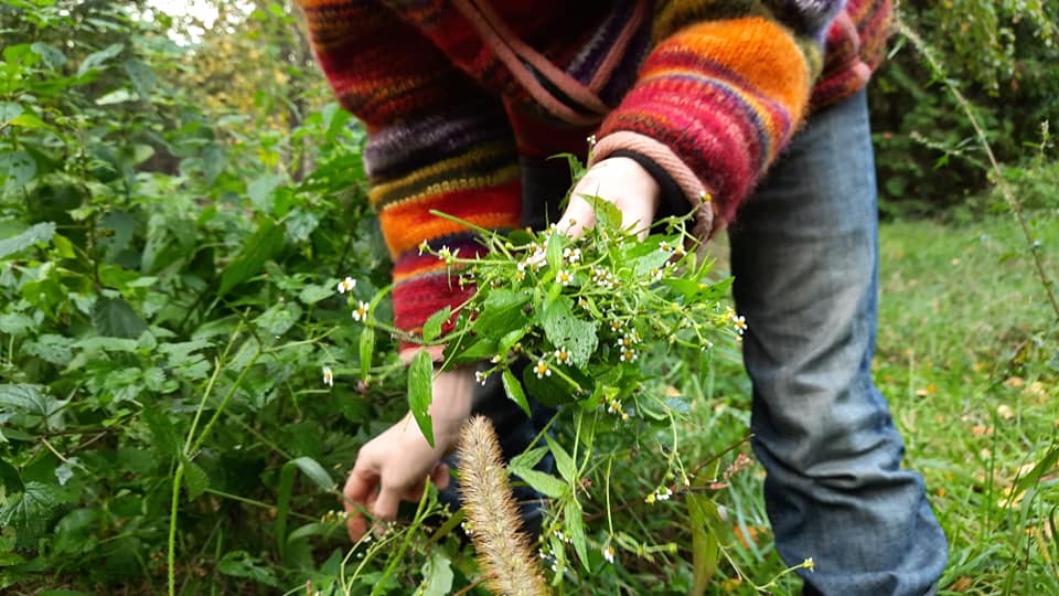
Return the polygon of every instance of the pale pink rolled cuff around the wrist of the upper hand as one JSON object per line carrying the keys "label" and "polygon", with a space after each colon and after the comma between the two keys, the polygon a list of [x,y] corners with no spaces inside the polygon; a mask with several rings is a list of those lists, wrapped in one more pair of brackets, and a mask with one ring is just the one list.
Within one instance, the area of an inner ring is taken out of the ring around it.
{"label": "pale pink rolled cuff around the wrist of the upper hand", "polygon": [[589,167],[609,157],[631,158],[654,177],[662,190],[659,216],[684,215],[694,210],[694,234],[708,238],[716,232],[712,193],[672,149],[639,132],[619,130],[596,143]]}

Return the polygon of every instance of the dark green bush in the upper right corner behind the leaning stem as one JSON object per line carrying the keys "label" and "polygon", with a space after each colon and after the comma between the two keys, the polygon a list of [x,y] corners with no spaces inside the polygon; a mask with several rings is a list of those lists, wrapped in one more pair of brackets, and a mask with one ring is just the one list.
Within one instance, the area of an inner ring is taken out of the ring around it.
{"label": "dark green bush in the upper right corner behind the leaning stem", "polygon": [[[1040,142],[1041,123],[1059,121],[1059,7],[914,1],[902,2],[899,14],[937,50],[941,76],[977,107],[997,158],[1026,167],[1033,159],[1026,146]],[[966,205],[988,182],[982,148],[911,44],[896,38],[892,45],[870,87],[881,209],[923,215]]]}

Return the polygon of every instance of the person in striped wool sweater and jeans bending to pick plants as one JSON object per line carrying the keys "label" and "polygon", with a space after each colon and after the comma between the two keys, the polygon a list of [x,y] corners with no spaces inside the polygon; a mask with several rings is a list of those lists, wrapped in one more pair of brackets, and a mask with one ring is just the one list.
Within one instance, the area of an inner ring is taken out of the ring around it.
{"label": "person in striped wool sweater and jeans bending to pick plants", "polygon": [[[935,589],[945,538],[921,477],[900,467],[870,373],[878,249],[864,86],[890,0],[299,3],[319,64],[368,132],[398,328],[415,333],[473,291],[418,251],[483,251],[430,210],[496,230],[554,221],[570,180],[547,158],[584,157],[592,135],[560,230],[592,224],[584,193],[639,228],[692,211],[704,238],[729,228],[752,446],[779,554],[815,562],[799,572],[805,593]],[[436,375],[435,447],[407,417],[364,445],[345,486],[353,538],[367,528],[354,504],[389,520],[427,477],[448,485],[440,460],[462,422],[475,405],[501,407],[475,404],[474,386],[470,371]]]}

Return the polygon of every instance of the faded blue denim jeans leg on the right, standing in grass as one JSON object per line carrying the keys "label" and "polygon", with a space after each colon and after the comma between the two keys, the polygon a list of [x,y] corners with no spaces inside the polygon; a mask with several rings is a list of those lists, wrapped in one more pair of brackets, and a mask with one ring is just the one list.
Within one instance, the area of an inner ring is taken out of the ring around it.
{"label": "faded blue denim jeans leg on the right, standing in grass", "polygon": [[780,556],[806,594],[922,595],[948,557],[871,381],[875,162],[864,92],[815,114],[729,231],[749,329],[753,449]]}

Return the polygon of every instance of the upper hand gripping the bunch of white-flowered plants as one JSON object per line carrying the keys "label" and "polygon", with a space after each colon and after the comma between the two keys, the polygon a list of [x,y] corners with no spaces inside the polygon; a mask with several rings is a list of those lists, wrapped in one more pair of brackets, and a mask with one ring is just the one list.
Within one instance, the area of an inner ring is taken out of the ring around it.
{"label": "upper hand gripping the bunch of white-flowered plants", "polygon": [[570,202],[558,223],[558,228],[574,238],[596,225],[596,211],[585,195],[613,203],[621,212],[621,226],[631,226],[643,240],[659,210],[661,189],[632,158],[607,158],[596,163],[570,191]]}

